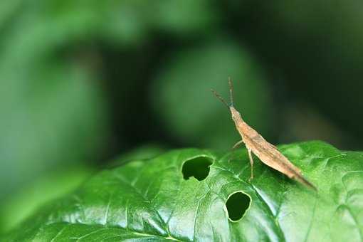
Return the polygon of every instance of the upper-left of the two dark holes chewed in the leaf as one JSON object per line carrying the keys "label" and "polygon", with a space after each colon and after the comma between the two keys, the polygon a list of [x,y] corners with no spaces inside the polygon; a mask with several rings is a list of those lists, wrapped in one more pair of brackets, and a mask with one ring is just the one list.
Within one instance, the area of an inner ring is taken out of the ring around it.
{"label": "upper-left of the two dark holes chewed in the leaf", "polygon": [[184,162],[181,172],[186,180],[190,177],[195,177],[197,180],[202,181],[208,177],[211,164],[211,160],[206,157],[196,157]]}

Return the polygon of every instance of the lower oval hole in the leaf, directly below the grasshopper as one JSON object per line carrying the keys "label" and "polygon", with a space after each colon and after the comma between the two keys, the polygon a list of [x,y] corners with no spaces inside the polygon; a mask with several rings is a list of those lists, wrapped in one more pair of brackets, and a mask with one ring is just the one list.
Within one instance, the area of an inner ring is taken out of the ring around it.
{"label": "lower oval hole in the leaf, directly below the grasshopper", "polygon": [[241,191],[231,194],[226,201],[228,219],[233,222],[242,219],[251,205],[251,198]]}

